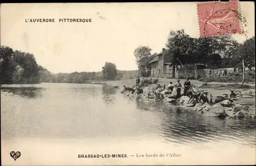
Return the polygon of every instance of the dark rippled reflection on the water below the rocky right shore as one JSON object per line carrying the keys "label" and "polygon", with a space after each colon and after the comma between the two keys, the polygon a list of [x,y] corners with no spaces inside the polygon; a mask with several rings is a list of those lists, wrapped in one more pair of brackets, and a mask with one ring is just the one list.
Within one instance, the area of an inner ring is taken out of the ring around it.
{"label": "dark rippled reflection on the water below the rocky right shore", "polygon": [[154,122],[148,118],[150,114],[147,114],[147,119],[140,121],[140,129],[146,130],[148,124],[151,124],[151,128],[163,137],[166,143],[187,145],[227,140],[244,145],[255,144],[252,139],[255,137],[255,121],[208,117],[162,101],[136,100],[136,106],[158,116],[158,122]]}

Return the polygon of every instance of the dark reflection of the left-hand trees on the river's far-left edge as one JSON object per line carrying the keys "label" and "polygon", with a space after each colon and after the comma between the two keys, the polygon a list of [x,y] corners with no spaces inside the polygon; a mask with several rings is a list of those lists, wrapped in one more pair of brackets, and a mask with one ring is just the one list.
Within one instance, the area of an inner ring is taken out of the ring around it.
{"label": "dark reflection of the left-hand trees on the river's far-left edge", "polygon": [[36,99],[42,97],[43,88],[40,87],[1,87],[1,91],[7,92],[10,96],[20,96],[28,99]]}

